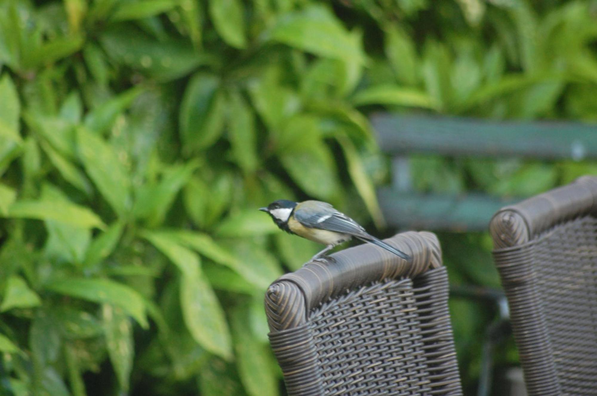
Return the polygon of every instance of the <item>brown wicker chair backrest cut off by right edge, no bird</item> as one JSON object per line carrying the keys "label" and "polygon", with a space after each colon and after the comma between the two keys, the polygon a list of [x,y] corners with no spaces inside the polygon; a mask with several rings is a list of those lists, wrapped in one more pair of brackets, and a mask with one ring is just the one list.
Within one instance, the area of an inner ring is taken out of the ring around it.
{"label": "brown wicker chair backrest cut off by right edge, no bird", "polygon": [[597,177],[501,209],[490,231],[528,394],[597,394]]}

